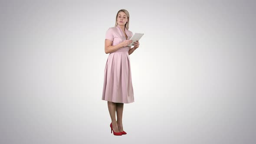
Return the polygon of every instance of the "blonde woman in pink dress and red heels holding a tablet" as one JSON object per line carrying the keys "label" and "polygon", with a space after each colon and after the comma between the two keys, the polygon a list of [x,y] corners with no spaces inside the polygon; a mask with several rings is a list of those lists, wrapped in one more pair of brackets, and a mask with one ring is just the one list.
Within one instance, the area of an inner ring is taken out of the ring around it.
{"label": "blonde woman in pink dress and red heels holding a tablet", "polygon": [[127,134],[122,125],[124,103],[134,102],[129,55],[139,47],[139,42],[135,42],[133,48],[128,46],[133,35],[128,29],[129,13],[121,9],[116,14],[115,27],[108,28],[105,35],[105,53],[109,55],[105,65],[102,100],[108,101],[112,121],[110,128],[114,135]]}

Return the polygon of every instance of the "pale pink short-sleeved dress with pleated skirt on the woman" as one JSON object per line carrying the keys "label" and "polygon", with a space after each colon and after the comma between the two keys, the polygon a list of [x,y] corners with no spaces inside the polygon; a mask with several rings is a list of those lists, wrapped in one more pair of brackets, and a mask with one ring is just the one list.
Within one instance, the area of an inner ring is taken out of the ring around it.
{"label": "pale pink short-sleeved dress with pleated skirt on the woman", "polygon": [[[133,33],[125,28],[128,39]],[[107,30],[105,39],[112,41],[112,46],[128,40],[120,26],[110,27]],[[116,103],[134,102],[133,87],[131,82],[131,66],[129,49],[131,46],[124,46],[108,55],[104,71],[104,84],[102,100]]]}

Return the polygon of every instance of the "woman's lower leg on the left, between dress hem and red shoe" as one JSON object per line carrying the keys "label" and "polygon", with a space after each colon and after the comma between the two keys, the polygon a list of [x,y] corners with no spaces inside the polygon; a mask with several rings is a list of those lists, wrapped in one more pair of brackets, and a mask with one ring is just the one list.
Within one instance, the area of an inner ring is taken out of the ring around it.
{"label": "woman's lower leg on the left, between dress hem and red shoe", "polygon": [[108,111],[109,111],[109,114],[110,114],[110,117],[111,117],[113,130],[115,132],[119,132],[118,125],[117,125],[117,122],[115,120],[115,111],[116,111],[116,103],[115,102],[108,101]]}

